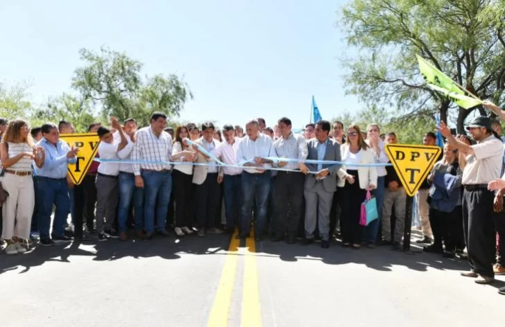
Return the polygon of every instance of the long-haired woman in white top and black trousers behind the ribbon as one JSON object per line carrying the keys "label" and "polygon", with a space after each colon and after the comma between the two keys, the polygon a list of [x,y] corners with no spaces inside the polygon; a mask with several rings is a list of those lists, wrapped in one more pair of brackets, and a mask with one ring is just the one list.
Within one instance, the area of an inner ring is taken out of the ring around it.
{"label": "long-haired woman in white top and black trousers behind the ribbon", "polygon": [[[176,129],[175,139],[172,147],[173,161],[195,161],[196,152],[194,152],[185,139],[189,136],[186,126],[179,126]],[[193,230],[191,226],[191,200],[193,199],[193,165],[178,164],[173,166],[173,198],[176,201],[176,235],[183,237],[191,235]]]}

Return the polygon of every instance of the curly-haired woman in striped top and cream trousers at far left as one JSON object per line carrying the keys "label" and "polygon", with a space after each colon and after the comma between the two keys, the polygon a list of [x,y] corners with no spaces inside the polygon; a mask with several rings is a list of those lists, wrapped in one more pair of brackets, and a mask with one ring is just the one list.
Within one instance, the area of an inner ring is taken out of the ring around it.
{"label": "curly-haired woman in striped top and cream trousers at far left", "polygon": [[44,148],[35,147],[26,121],[11,121],[0,143],[3,165],[1,186],[8,193],[3,204],[2,238],[7,241],[6,254],[26,252],[22,244],[30,238],[31,218],[35,206],[32,162],[44,165]]}

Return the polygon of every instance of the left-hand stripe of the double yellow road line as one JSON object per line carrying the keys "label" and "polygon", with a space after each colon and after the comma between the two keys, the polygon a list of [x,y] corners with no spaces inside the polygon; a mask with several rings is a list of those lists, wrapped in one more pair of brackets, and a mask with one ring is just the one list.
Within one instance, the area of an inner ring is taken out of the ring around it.
{"label": "left-hand stripe of the double yellow road line", "polygon": [[[228,254],[230,252],[238,252],[240,240],[235,239],[235,236],[239,233],[235,230],[232,235],[232,240],[230,241],[230,246],[228,247]],[[223,327],[228,326],[228,317],[230,316],[230,304],[232,301],[232,292],[235,285],[235,275],[237,274],[237,263],[239,262],[239,257],[234,254],[227,255],[225,265],[223,267],[223,273],[221,274],[221,279],[219,280],[219,285],[216,291],[216,297],[214,298],[214,304],[212,305],[212,310],[210,311],[209,321],[207,321],[208,327]]]}

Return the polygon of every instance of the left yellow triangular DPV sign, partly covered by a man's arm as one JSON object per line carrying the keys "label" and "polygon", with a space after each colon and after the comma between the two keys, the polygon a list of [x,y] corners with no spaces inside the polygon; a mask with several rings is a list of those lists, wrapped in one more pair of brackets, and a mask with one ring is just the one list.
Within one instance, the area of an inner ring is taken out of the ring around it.
{"label": "left yellow triangular DPV sign, partly covered by a man's arm", "polygon": [[91,166],[96,151],[99,149],[100,139],[96,133],[62,134],[60,139],[72,148],[79,148],[76,164],[69,164],[69,176],[74,184],[79,185]]}

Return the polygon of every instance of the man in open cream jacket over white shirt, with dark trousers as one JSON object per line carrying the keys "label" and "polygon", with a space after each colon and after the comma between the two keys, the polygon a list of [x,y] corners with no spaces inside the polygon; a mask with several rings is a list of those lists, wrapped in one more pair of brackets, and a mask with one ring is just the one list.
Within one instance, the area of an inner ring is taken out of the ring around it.
{"label": "man in open cream jacket over white shirt, with dark trousers", "polygon": [[[202,137],[195,143],[207,150],[209,154],[214,154],[214,150],[219,145],[219,141],[214,139],[216,128],[213,123],[202,124]],[[198,152],[196,162],[198,164],[209,164],[209,166],[195,166],[193,173],[193,184],[196,184],[196,220],[198,222],[198,236],[205,236],[205,229],[209,233],[223,233],[218,224],[221,217],[216,219],[217,209],[220,205],[219,198],[221,189],[218,183],[219,167],[214,159],[207,154]]]}

